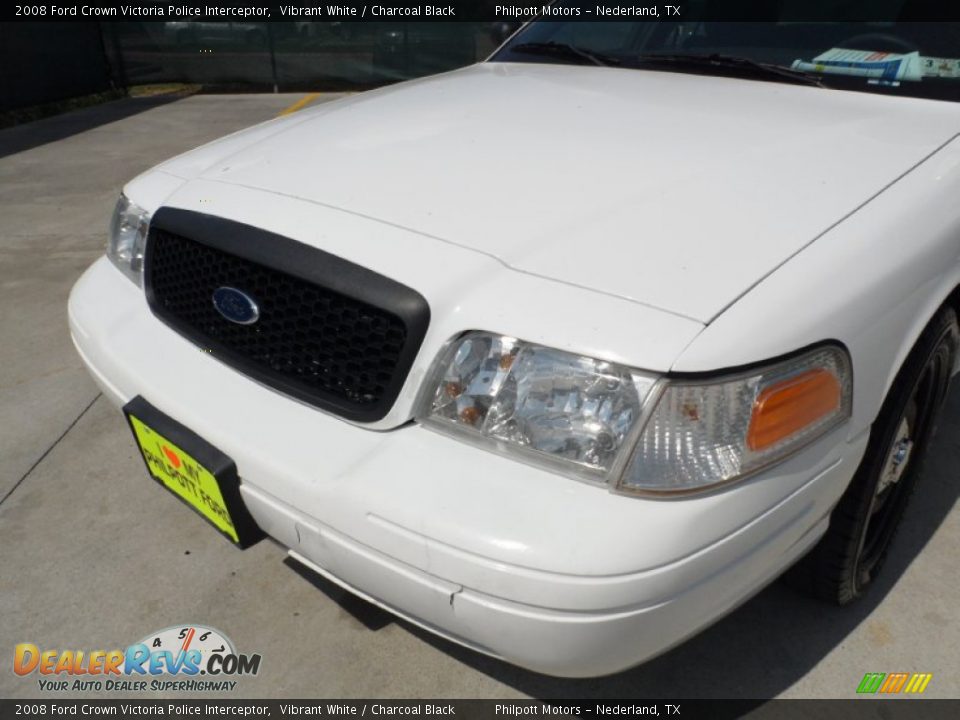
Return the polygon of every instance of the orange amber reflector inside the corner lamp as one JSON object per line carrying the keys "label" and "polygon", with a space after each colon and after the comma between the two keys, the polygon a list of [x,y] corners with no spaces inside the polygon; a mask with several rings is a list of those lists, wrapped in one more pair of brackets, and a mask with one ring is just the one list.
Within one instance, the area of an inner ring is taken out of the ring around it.
{"label": "orange amber reflector inside the corner lamp", "polygon": [[765,450],[839,409],[840,381],[818,368],[774,383],[753,403],[747,447]]}

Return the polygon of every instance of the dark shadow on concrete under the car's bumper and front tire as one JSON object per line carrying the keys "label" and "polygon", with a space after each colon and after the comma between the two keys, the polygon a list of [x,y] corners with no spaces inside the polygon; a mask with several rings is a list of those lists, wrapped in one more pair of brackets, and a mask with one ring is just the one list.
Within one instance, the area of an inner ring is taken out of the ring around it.
{"label": "dark shadow on concrete under the car's bumper and front tire", "polygon": [[465,665],[536,698],[773,698],[869,618],[940,527],[960,496],[956,458],[952,457],[958,434],[960,383],[948,398],[926,471],[884,571],[870,594],[852,606],[831,606],[774,583],[668,653],[617,675],[585,680],[522,670],[401,624]]}

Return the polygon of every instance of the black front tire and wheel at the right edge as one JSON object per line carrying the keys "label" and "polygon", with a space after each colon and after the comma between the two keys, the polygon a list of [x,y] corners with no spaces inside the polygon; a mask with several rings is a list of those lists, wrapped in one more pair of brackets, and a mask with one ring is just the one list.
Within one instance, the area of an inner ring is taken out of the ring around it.
{"label": "black front tire and wheel at the right edge", "polygon": [[833,510],[826,534],[789,573],[792,585],[846,605],[873,584],[917,485],[958,342],[956,313],[941,310],[887,394],[864,458]]}

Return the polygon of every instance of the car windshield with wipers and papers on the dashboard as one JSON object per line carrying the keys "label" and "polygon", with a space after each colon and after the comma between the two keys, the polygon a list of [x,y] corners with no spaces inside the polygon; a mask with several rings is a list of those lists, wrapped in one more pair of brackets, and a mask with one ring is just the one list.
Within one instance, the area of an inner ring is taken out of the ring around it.
{"label": "car windshield with wipers and papers on the dashboard", "polygon": [[[709,17],[711,2],[687,3],[688,16]],[[912,22],[921,0],[887,0],[890,22],[811,22],[818,3],[782,0],[783,20],[670,22],[535,20],[514,35],[494,62],[609,65],[802,82],[825,88],[960,100],[960,23]],[[927,0],[922,0],[926,2]],[[554,8],[595,3],[558,0]],[[829,11],[825,11],[829,12]],[[554,15],[556,17],[557,15]],[[829,15],[824,15],[829,17]]]}

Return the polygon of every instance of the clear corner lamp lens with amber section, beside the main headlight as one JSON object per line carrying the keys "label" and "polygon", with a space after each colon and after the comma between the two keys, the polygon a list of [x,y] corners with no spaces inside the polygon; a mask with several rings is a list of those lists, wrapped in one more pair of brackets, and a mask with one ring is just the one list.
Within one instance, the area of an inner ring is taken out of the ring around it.
{"label": "clear corner lamp lens with amber section, beside the main headlight", "polygon": [[850,417],[851,374],[847,353],[828,346],[733,377],[671,381],[618,488],[692,492],[782,460]]}

